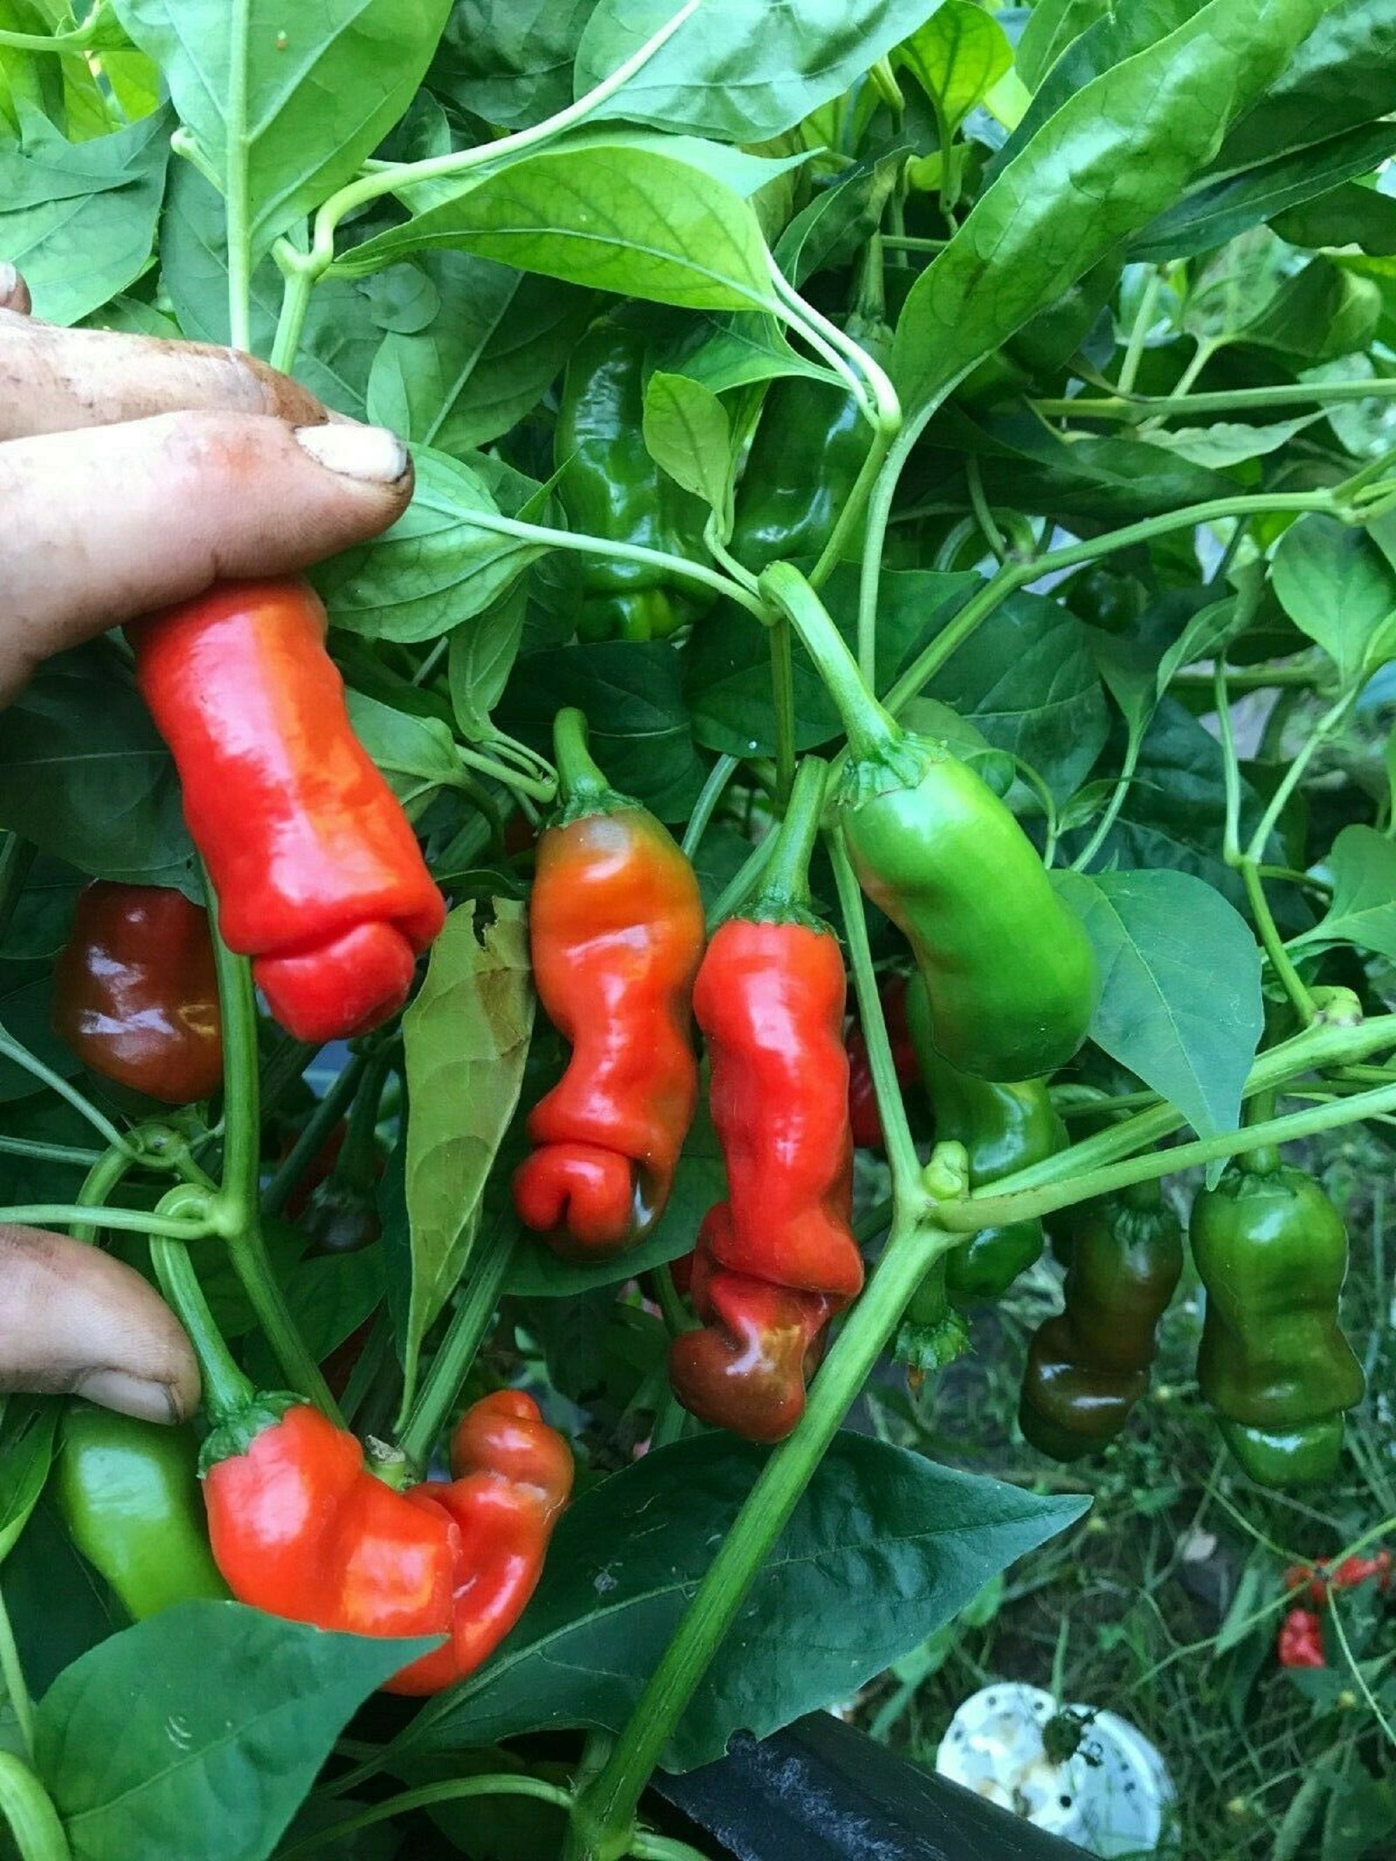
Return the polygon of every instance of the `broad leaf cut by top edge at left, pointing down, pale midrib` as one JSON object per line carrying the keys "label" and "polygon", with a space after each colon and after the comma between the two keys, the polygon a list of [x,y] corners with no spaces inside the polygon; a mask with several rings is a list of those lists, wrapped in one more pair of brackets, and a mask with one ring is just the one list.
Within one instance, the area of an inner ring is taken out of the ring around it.
{"label": "broad leaf cut by top edge at left, pointing down, pale midrib", "polygon": [[398,121],[450,0],[114,0],[225,192],[248,195],[251,257],[352,181]]}

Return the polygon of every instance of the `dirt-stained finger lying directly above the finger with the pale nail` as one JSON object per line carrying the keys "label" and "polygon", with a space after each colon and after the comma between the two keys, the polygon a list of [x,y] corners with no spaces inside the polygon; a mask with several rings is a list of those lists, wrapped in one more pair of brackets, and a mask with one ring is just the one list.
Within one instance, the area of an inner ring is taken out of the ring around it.
{"label": "dirt-stained finger lying directly above the finger with the pale nail", "polygon": [[[6,274],[15,285],[6,296]],[[166,342],[112,329],[60,329],[22,315],[24,279],[0,266],[0,439],[143,421],[182,408],[274,413],[292,426],[326,419],[290,376],[212,342]]]}

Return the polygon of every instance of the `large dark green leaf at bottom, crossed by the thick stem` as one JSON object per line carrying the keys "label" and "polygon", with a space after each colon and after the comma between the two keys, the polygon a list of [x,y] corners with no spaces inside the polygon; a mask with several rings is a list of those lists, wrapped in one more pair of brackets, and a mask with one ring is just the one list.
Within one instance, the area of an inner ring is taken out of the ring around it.
{"label": "large dark green leaf at bottom, crossed by the thick stem", "polygon": [[[456,1751],[544,1725],[620,1731],[763,1459],[700,1435],[583,1493],[519,1628],[395,1751]],[[839,1435],[663,1764],[691,1770],[722,1757],[735,1731],[761,1738],[851,1697],[1083,1509]]]}

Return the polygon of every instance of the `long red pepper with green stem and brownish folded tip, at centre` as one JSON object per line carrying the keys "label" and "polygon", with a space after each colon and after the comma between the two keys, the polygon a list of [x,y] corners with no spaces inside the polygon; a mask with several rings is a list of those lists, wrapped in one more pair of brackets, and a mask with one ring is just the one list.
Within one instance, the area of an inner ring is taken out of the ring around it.
{"label": "long red pepper with green stem and brownish folded tip, at centre", "polygon": [[804,1411],[826,1319],[862,1290],[849,1226],[852,1131],[838,938],[810,910],[825,765],[806,759],[761,895],[707,945],[694,1014],[707,1040],[728,1198],[704,1221],[670,1381],[705,1422],[780,1440]]}

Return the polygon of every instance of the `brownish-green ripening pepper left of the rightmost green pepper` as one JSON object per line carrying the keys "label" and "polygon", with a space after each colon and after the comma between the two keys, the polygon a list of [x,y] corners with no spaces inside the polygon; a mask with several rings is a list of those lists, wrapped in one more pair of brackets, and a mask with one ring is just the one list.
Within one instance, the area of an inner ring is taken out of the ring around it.
{"label": "brownish-green ripening pepper left of the rightmost green pepper", "polygon": [[1065,1310],[1033,1334],[1022,1381],[1018,1424],[1040,1453],[1076,1461],[1121,1433],[1180,1275],[1182,1223],[1156,1182],[1078,1212]]}

